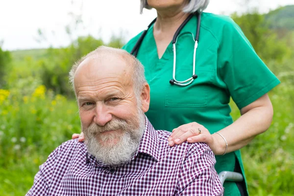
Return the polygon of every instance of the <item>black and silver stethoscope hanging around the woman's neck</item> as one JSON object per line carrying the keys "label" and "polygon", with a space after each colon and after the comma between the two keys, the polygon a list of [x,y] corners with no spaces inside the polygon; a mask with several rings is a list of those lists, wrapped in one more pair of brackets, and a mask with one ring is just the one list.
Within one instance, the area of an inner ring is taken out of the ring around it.
{"label": "black and silver stethoscope hanging around the woman's neck", "polygon": [[[190,21],[190,19],[194,16],[194,15],[197,15],[197,30],[196,30],[196,38],[194,39],[194,35],[193,33],[192,36],[193,36],[193,40],[195,41],[195,44],[194,44],[194,54],[193,54],[193,74],[192,74],[192,77],[184,80],[184,81],[178,81],[175,79],[175,61],[176,61],[176,50],[175,50],[175,44],[176,44],[176,41],[177,41],[177,38],[180,34],[180,31],[183,29],[183,27]],[[139,38],[139,40],[137,41],[137,43],[135,44],[134,48],[132,49],[131,51],[131,54],[134,55],[135,57],[137,57],[137,54],[138,54],[138,51],[139,51],[139,48],[142,44],[142,41],[149,29],[149,27],[151,25],[153,25],[156,21],[156,18],[148,25],[147,29],[145,29],[141,35],[141,37]],[[193,14],[190,14],[188,16],[188,18],[186,18],[186,20],[178,27],[178,29],[175,31],[174,35],[173,35],[173,38],[172,38],[172,51],[173,51],[173,68],[172,68],[172,78],[170,80],[170,83],[173,85],[178,85],[178,86],[188,86],[189,84],[191,84],[193,82],[194,79],[196,79],[198,76],[195,74],[195,61],[196,61],[196,49],[198,47],[198,40],[199,40],[199,30],[200,30],[200,22],[201,22],[201,14],[196,12],[196,13],[193,13]]]}

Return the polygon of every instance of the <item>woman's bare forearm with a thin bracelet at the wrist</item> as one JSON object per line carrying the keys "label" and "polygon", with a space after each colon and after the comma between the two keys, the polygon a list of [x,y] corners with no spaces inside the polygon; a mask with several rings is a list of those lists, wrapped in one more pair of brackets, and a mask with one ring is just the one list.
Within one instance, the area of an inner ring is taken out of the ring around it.
{"label": "woman's bare forearm with a thin bracelet at the wrist", "polygon": [[[257,99],[241,110],[241,117],[218,131],[226,139],[227,151],[232,152],[246,146],[256,135],[265,132],[272,121],[273,109],[268,95]],[[226,144],[219,134],[213,134],[215,155],[224,153]]]}

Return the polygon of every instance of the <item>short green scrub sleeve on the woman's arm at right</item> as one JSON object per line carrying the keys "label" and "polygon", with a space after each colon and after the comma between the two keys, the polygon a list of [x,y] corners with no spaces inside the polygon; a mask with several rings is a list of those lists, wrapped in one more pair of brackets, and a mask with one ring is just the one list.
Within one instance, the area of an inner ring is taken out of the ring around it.
{"label": "short green scrub sleeve on the woman's arm at right", "polygon": [[239,109],[268,93],[280,81],[259,58],[230,18],[220,29],[218,72]]}

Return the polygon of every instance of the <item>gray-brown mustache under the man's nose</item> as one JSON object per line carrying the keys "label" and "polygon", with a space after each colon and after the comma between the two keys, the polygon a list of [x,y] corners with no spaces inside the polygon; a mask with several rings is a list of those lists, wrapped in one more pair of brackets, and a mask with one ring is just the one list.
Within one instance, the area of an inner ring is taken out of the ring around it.
{"label": "gray-brown mustache under the man's nose", "polygon": [[86,132],[97,134],[97,133],[103,133],[105,131],[111,131],[116,129],[122,129],[127,130],[129,129],[128,123],[126,123],[125,120],[122,119],[113,119],[109,122],[107,122],[105,125],[100,126],[96,123],[92,123],[87,129]]}

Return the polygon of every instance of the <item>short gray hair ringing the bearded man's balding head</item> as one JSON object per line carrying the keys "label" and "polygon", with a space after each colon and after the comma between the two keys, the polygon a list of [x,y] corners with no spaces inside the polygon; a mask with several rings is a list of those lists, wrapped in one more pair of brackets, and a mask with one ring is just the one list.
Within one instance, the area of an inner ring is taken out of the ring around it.
{"label": "short gray hair ringing the bearded man's balding head", "polygon": [[140,97],[141,92],[143,90],[144,87],[144,83],[146,83],[146,78],[145,78],[145,71],[144,71],[144,66],[142,65],[142,63],[133,55],[129,54],[127,51],[123,50],[123,49],[114,49],[114,48],[110,48],[110,47],[105,47],[105,46],[100,46],[97,49],[93,50],[92,52],[88,53],[87,55],[83,56],[82,58],[80,58],[78,61],[76,61],[73,64],[73,67],[69,73],[69,80],[70,80],[70,84],[73,87],[73,91],[75,92],[74,89],[74,74],[78,68],[78,66],[89,56],[92,55],[98,55],[102,52],[107,52],[109,54],[117,54],[117,55],[121,55],[122,57],[125,57],[124,59],[126,59],[128,62],[131,62],[133,65],[133,73],[132,74],[132,79],[133,79],[133,88],[134,88],[134,93],[136,95],[137,98]]}

